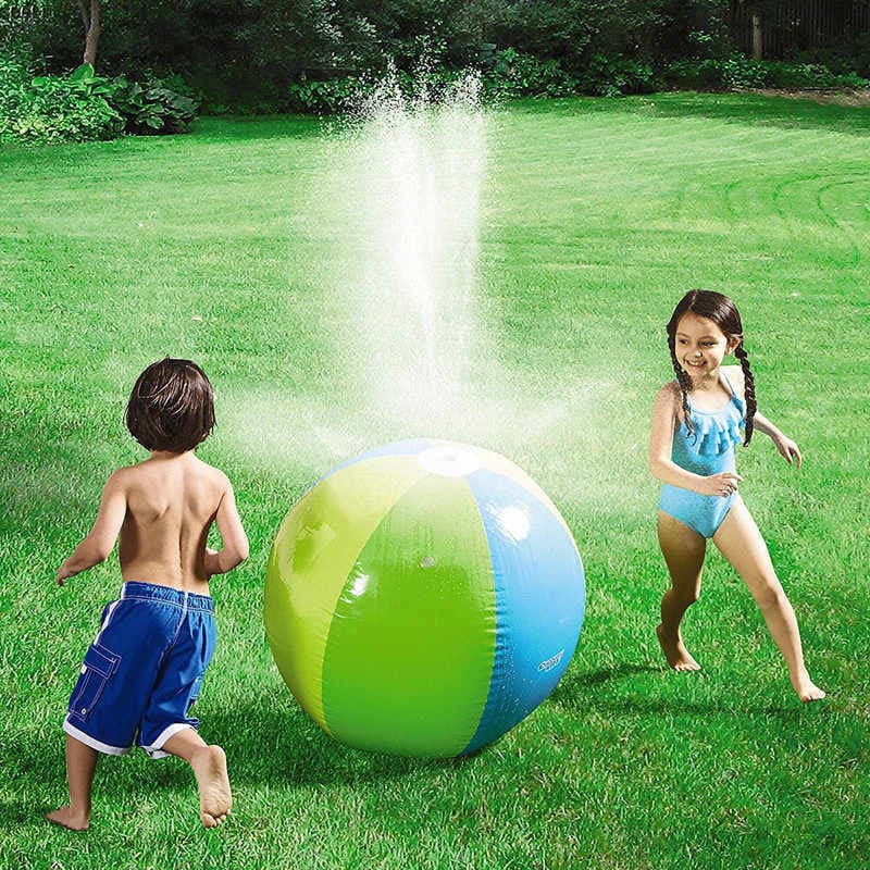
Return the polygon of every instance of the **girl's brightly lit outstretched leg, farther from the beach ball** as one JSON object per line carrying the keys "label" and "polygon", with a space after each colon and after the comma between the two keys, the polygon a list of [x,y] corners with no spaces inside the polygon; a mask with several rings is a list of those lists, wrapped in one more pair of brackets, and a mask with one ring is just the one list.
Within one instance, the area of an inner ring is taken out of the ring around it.
{"label": "girl's brightly lit outstretched leg, farther from the beach ball", "polygon": [[773,570],[767,544],[739,497],[734,499],[728,517],[713,535],[713,544],[749,587],[768,630],[788,666],[792,685],[800,700],[823,698],[824,692],[812,684],[804,666],[795,611]]}

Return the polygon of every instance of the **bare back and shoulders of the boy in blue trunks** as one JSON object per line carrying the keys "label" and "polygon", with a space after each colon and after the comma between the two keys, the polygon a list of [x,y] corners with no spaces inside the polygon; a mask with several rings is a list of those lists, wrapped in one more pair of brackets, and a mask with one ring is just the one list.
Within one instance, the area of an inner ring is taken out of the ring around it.
{"label": "bare back and shoulders of the boy in blue trunks", "polygon": [[110,484],[126,502],[119,543],[124,581],[207,595],[209,529],[216,521],[220,531],[232,535],[231,514],[236,514],[226,475],[192,452],[156,452],[120,469]]}

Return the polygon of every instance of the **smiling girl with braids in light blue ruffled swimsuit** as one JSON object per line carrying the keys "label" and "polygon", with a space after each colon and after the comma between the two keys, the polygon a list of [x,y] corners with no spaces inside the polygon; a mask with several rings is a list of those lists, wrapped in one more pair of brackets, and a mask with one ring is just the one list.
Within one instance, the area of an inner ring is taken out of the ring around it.
{"label": "smiling girl with braids in light blue ruffled swimsuit", "polygon": [[[649,439],[649,468],[663,484],[658,537],[671,588],[661,599],[659,643],[676,671],[700,666],[683,645],[680,623],[698,599],[707,538],[743,577],[788,666],[801,700],[824,697],[804,666],[794,610],[770,561],[767,545],[737,493],[734,446],[745,433],[769,435],[791,464],[800,467],[797,445],[756,408],[755,381],[743,347],[743,325],[726,296],[689,290],[668,323],[668,345],[676,380],[656,397]],[[722,368],[733,353],[739,366]]]}

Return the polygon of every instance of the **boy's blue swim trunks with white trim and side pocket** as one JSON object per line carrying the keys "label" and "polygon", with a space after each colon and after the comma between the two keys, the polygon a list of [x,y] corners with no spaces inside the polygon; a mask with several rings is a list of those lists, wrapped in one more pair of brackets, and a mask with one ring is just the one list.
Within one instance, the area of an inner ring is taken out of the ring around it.
{"label": "boy's blue swim trunks with white trim and side pocket", "polygon": [[199,725],[190,707],[216,639],[208,595],[125,583],[85,654],[63,730],[109,755],[135,742],[151,758],[165,758],[170,737]]}

